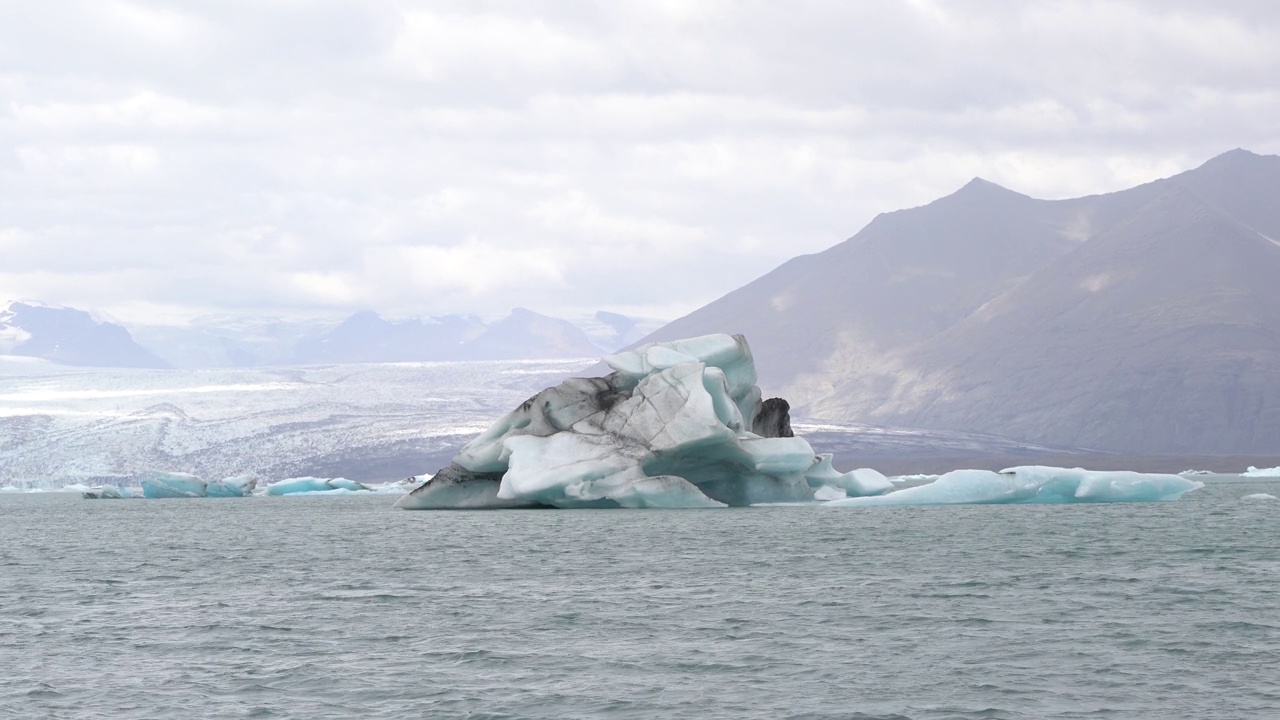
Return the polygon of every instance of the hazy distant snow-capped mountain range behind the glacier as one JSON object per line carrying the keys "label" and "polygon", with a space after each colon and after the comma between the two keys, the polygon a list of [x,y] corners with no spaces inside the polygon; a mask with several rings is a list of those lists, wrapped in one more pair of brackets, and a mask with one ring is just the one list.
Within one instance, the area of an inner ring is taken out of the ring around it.
{"label": "hazy distant snow-capped mountain range behind the glacier", "polygon": [[596,313],[577,323],[517,307],[486,323],[475,315],[388,320],[361,311],[340,323],[207,318],[131,331],[88,313],[35,302],[0,310],[0,355],[99,368],[251,368],[435,360],[598,357],[660,322]]}

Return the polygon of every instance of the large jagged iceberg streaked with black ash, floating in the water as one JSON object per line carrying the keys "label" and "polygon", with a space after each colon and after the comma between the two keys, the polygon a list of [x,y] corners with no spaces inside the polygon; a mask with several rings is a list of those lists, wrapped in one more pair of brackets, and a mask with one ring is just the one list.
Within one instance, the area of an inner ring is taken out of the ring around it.
{"label": "large jagged iceberg streaked with black ash, floating in the water", "polygon": [[652,343],[613,373],[544,389],[406,495],[411,510],[723,507],[886,492],[794,437],[785,400],[762,401],[742,336]]}

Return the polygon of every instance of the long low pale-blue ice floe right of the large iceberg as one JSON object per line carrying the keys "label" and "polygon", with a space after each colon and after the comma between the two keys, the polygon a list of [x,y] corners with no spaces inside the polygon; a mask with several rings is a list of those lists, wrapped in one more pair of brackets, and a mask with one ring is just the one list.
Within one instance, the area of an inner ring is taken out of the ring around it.
{"label": "long low pale-blue ice floe right of the large iceberg", "polygon": [[1153,502],[1178,500],[1204,487],[1180,475],[1091,471],[1079,468],[1027,465],[1000,473],[952,470],[937,480],[876,497],[828,502],[831,507],[863,505],[978,505],[1020,502]]}

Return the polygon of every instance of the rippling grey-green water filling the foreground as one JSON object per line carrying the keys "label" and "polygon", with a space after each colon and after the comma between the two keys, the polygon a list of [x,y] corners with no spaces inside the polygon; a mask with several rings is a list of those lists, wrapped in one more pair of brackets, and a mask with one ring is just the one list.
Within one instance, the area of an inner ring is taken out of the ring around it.
{"label": "rippling grey-green water filling the foreground", "polygon": [[0,496],[4,717],[1280,717],[1276,483],[404,512]]}

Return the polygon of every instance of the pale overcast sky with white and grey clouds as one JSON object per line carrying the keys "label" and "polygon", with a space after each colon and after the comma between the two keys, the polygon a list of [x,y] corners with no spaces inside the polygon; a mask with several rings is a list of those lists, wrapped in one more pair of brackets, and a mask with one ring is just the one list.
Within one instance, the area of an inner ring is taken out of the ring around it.
{"label": "pale overcast sky with white and grey clouds", "polygon": [[0,300],[673,318],[980,176],[1280,152],[1280,4],[0,4]]}

